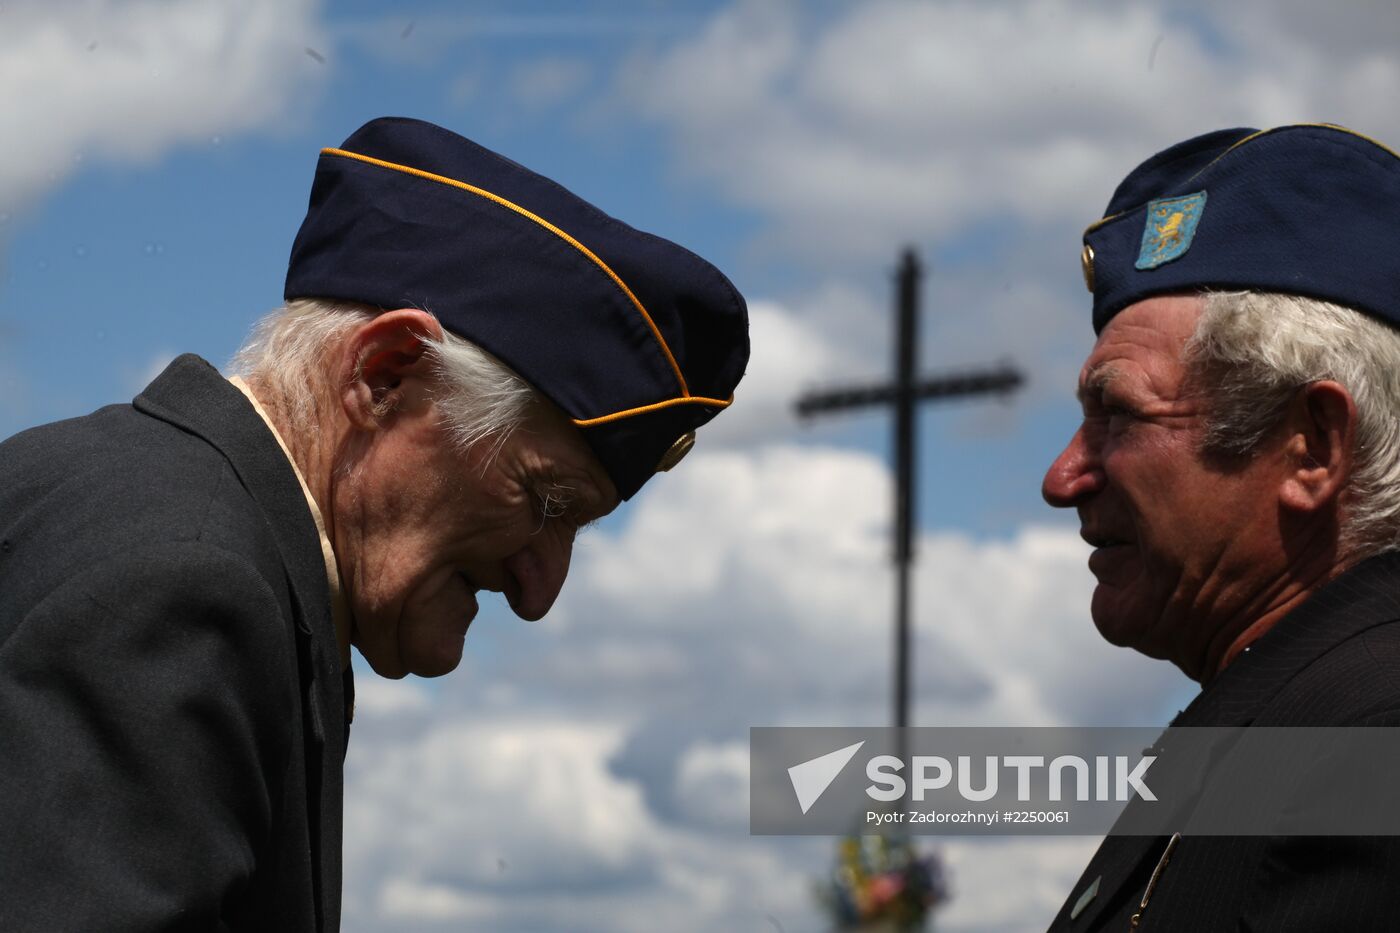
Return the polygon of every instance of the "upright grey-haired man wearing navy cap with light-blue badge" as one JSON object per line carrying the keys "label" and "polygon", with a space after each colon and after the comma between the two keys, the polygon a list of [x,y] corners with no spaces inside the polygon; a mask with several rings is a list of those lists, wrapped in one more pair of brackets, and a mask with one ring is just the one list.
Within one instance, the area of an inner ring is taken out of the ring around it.
{"label": "upright grey-haired man wearing navy cap with light-blue badge", "polygon": [[[1350,130],[1191,139],[1084,237],[1099,335],[1044,478],[1176,726],[1400,723],[1400,157]],[[1379,930],[1378,838],[1110,836],[1056,930]]]}

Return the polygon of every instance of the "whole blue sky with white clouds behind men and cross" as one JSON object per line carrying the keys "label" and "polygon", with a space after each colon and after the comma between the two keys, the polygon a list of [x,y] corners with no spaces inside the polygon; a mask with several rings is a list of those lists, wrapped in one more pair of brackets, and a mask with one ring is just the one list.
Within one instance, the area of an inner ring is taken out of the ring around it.
{"label": "whole blue sky with white clouds behind men and cross", "polygon": [[[1088,619],[1039,499],[1092,335],[1079,233],[1222,126],[1400,141],[1400,14],[1303,0],[0,3],[0,436],[224,363],[274,307],[316,151],[426,118],[720,265],[753,363],[682,468],[589,531],[536,625],[434,682],[360,677],[346,929],[820,930],[829,839],[748,835],[748,730],[888,716],[890,273],[930,266],[916,721],[1154,724],[1191,695]],[[944,930],[1032,930],[1096,841],[938,843]]]}

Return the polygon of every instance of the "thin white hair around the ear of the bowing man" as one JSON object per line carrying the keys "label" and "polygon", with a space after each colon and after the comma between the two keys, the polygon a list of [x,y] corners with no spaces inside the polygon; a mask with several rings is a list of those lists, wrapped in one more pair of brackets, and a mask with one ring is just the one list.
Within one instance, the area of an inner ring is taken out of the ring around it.
{"label": "thin white hair around the ear of the bowing man", "polygon": [[[326,352],[350,331],[379,315],[372,305],[297,298],[258,322],[234,356],[230,370],[272,394],[276,408],[297,429],[322,415],[328,378]],[[435,401],[442,424],[461,450],[489,440],[500,445],[538,398],[504,363],[455,333],[424,335],[437,377]]]}

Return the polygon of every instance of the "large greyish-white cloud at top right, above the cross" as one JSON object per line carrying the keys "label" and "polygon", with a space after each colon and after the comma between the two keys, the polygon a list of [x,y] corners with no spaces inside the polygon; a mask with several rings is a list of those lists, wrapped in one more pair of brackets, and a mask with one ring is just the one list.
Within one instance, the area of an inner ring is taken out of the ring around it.
{"label": "large greyish-white cloud at top right, above the cross", "polygon": [[1000,217],[1074,242],[1134,164],[1194,133],[1333,119],[1397,134],[1390,50],[1348,49],[1337,27],[1319,42],[1294,6],[876,0],[823,20],[741,0],[633,60],[619,92],[788,252],[868,262]]}

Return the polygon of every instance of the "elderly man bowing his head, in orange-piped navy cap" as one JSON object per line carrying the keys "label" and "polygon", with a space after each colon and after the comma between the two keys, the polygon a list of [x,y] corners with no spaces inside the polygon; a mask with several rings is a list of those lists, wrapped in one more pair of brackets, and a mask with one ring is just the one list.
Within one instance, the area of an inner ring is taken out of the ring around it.
{"label": "elderly man bowing his head, in orange-piped navy cap", "polygon": [[545,615],[748,356],[708,263],[406,119],[322,151],[286,298],[0,445],[0,929],[337,929],[350,646]]}

